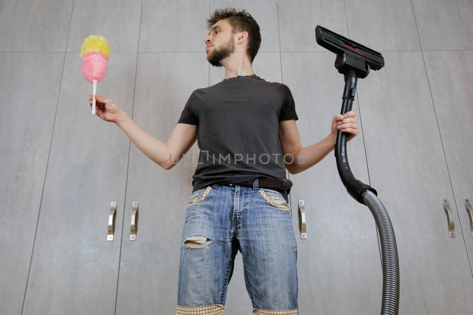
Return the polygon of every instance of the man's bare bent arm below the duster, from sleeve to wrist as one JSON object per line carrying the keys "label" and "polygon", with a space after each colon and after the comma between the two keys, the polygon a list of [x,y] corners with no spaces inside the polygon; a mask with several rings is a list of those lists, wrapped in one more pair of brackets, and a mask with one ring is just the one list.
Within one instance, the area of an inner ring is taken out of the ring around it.
{"label": "man's bare bent arm below the duster, from sleeve to wrist", "polygon": [[187,153],[197,140],[197,125],[178,123],[164,143],[140,128],[124,111],[120,112],[120,119],[116,125],[142,153],[166,170],[172,169],[177,164],[178,156],[179,161],[182,160],[182,154]]}

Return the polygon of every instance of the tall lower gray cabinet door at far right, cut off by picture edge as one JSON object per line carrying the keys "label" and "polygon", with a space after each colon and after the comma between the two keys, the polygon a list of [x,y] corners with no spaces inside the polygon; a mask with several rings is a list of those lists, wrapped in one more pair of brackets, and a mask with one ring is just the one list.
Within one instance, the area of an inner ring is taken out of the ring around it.
{"label": "tall lower gray cabinet door at far right, cut off by picture edge", "polygon": [[[470,262],[473,261],[473,222],[464,199],[473,204],[472,57],[473,51],[424,51],[455,198],[450,200],[450,206],[452,211],[458,212],[460,219],[455,221],[456,237],[462,238],[460,231],[463,233]],[[461,223],[461,230],[458,223]]]}

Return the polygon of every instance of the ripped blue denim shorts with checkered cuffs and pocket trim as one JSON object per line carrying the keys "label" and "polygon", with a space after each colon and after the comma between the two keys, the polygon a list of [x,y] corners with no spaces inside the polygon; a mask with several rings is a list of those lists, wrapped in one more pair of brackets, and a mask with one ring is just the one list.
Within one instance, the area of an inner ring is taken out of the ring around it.
{"label": "ripped blue denim shorts with checkered cuffs and pocket trim", "polygon": [[238,250],[252,314],[298,314],[290,207],[279,191],[257,186],[213,184],[192,192],[181,237],[176,315],[225,314]]}

